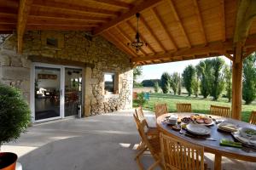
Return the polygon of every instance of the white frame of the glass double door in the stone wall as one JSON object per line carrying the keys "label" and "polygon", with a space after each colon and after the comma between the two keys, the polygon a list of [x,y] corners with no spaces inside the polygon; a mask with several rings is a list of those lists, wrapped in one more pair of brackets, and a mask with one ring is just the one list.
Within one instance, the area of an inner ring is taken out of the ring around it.
{"label": "white frame of the glass double door in the stone wall", "polygon": [[[60,69],[61,71],[61,85],[60,85],[60,116],[56,117],[50,117],[47,119],[42,119],[42,120],[35,120],[35,68],[36,66],[41,66],[41,67],[48,67],[48,68],[57,68]],[[32,63],[32,68],[31,68],[31,90],[30,90],[30,108],[32,111],[32,122],[45,122],[45,121],[51,121],[55,119],[61,119],[65,117],[70,117],[70,116],[65,116],[65,68],[74,68],[74,69],[82,69],[82,101],[81,101],[81,111],[83,112],[83,104],[84,104],[84,68],[82,67],[77,67],[77,66],[71,66],[71,65],[52,65],[52,64],[45,64],[45,63],[38,63],[38,62],[33,62]]]}

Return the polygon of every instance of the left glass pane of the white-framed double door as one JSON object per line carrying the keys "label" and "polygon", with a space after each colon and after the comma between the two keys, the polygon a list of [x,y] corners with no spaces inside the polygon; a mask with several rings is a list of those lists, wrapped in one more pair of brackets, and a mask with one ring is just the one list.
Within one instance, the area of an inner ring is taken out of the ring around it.
{"label": "left glass pane of the white-framed double door", "polygon": [[35,120],[60,116],[61,69],[35,68]]}

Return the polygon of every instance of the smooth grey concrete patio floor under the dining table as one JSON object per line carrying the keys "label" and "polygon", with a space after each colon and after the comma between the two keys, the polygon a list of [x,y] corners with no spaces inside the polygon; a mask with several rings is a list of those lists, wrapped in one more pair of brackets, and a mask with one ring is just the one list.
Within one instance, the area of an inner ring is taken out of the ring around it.
{"label": "smooth grey concrete patio floor under the dining table", "polygon": [[[155,126],[154,115],[145,115]],[[138,169],[133,158],[139,141],[132,111],[119,111],[35,124],[1,150],[17,153],[23,170],[133,170]],[[206,160],[212,168],[212,154],[206,154]],[[145,155],[142,162],[148,167],[153,158]],[[253,170],[256,163],[224,158],[223,169]]]}

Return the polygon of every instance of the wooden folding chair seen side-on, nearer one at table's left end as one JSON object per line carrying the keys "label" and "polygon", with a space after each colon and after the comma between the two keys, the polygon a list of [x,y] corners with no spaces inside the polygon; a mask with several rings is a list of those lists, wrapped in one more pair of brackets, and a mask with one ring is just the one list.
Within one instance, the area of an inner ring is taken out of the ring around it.
{"label": "wooden folding chair seen side-on, nearer one at table's left end", "polygon": [[135,157],[135,160],[137,161],[137,164],[139,166],[140,169],[143,169],[143,165],[140,162],[140,156],[143,155],[143,152],[145,150],[149,150],[151,155],[154,158],[154,163],[148,167],[148,169],[154,169],[154,167],[156,167],[157,165],[160,165],[160,167],[163,168],[162,164],[161,164],[161,156],[160,156],[160,139],[159,138],[148,138],[147,135],[147,123],[145,120],[140,121],[137,116],[135,114],[133,114],[134,120],[137,124],[137,130],[138,133],[140,134],[143,143],[145,144],[145,148],[143,150],[141,150],[137,156]]}

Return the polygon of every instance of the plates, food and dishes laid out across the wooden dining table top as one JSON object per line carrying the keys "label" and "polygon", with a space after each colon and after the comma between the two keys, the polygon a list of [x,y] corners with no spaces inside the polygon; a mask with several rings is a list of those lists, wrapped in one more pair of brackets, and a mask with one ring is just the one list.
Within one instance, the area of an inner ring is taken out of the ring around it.
{"label": "plates, food and dishes laid out across the wooden dining table top", "polygon": [[[193,139],[212,140],[224,147],[250,147],[256,149],[256,128],[241,127],[235,122],[224,120],[222,117],[213,118],[203,114],[191,114],[189,116],[178,116],[172,113],[165,116],[162,123],[173,131]],[[212,131],[230,135],[233,138],[216,138]]]}

